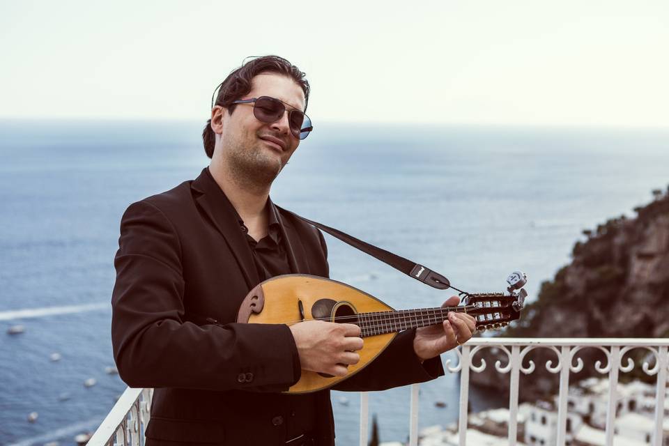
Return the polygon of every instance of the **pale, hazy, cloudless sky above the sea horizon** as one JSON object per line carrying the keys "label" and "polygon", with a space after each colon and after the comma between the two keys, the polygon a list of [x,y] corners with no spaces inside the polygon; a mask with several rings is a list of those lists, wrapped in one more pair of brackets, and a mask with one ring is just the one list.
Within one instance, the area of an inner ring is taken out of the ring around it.
{"label": "pale, hazy, cloudless sky above the sea horizon", "polygon": [[247,56],[318,122],[669,127],[669,2],[0,0],[0,118],[208,118]]}

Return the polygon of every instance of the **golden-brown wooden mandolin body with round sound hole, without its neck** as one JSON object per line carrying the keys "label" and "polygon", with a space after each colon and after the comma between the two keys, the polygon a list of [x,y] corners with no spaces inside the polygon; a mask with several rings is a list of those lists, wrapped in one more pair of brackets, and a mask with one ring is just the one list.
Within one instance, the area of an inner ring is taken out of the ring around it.
{"label": "golden-brown wooden mandolin body with round sound hole, without its neck", "polygon": [[[333,320],[334,317],[355,317],[357,313],[387,311],[393,311],[392,307],[353,286],[323,277],[291,274],[273,277],[252,289],[239,309],[237,322],[287,325],[302,319],[337,322]],[[364,369],[396,335],[397,332],[391,332],[364,337],[364,346],[357,351],[360,362],[348,366],[346,376],[328,376],[302,370],[300,380],[284,393],[309,393],[332,387]]]}

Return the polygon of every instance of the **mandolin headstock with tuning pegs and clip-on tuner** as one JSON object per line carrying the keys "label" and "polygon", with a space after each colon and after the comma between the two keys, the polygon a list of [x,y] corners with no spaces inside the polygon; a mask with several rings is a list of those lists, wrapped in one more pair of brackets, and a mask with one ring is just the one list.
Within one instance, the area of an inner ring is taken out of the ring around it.
{"label": "mandolin headstock with tuning pegs and clip-on tuner", "polygon": [[463,304],[467,305],[467,313],[476,319],[479,331],[495,330],[506,327],[509,322],[521,317],[521,309],[525,305],[528,292],[522,289],[527,283],[527,276],[515,271],[507,278],[509,287],[505,293],[473,293],[468,294]]}

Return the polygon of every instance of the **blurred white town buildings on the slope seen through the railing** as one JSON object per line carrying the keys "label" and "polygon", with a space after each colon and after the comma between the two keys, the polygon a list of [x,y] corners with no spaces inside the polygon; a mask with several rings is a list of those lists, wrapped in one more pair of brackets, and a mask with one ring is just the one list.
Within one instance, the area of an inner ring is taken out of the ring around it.
{"label": "blurred white town buildings on the slope seen through the railing", "polygon": [[[655,386],[632,381],[616,387],[614,446],[647,446],[654,442]],[[608,380],[590,378],[569,388],[565,443],[569,446],[605,446]],[[665,399],[669,413],[669,394]],[[518,406],[518,445],[548,446],[557,443],[557,397]],[[468,417],[468,445],[508,444],[509,410],[498,408]],[[456,424],[441,429],[431,426],[420,432],[421,446],[459,445]],[[669,417],[663,422],[663,443],[669,446]]]}

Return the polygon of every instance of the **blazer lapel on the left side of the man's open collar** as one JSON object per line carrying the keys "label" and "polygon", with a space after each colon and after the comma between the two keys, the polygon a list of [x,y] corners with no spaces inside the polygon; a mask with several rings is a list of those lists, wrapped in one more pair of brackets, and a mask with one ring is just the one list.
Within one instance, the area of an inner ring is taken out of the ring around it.
{"label": "blazer lapel on the left side of the man's open collar", "polygon": [[239,263],[249,289],[252,289],[259,284],[260,277],[246,240],[246,234],[240,229],[232,203],[210,176],[207,169],[207,167],[203,169],[200,176],[193,180],[190,187],[194,190],[195,200],[201,206],[203,212],[206,213],[216,229],[225,238],[237,263]]}

